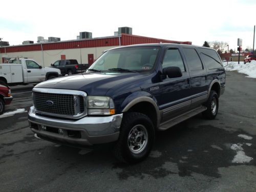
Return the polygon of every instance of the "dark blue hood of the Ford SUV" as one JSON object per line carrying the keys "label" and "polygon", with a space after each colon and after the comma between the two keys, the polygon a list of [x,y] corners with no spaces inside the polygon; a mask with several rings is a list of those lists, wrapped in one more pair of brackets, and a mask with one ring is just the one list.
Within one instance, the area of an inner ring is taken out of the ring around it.
{"label": "dark blue hood of the Ford SUV", "polygon": [[35,88],[79,90],[87,92],[88,95],[103,96],[113,87],[121,87],[125,82],[141,82],[147,75],[140,73],[76,74],[41,82]]}

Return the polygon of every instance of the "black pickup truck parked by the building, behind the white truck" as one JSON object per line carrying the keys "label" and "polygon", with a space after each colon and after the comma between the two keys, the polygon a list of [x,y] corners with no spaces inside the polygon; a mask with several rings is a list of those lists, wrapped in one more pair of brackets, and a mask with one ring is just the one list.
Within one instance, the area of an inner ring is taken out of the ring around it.
{"label": "black pickup truck parked by the building, behind the white truck", "polygon": [[55,61],[51,67],[59,69],[62,75],[72,75],[86,71],[89,65],[78,64],[76,59],[62,59]]}

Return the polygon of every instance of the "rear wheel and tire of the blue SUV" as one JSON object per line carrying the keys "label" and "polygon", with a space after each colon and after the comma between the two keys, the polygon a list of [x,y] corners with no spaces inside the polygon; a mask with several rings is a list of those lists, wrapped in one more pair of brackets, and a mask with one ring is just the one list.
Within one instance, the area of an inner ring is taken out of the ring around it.
{"label": "rear wheel and tire of the blue SUV", "polygon": [[204,104],[207,110],[202,114],[206,119],[214,119],[218,114],[219,109],[219,97],[215,91],[210,91],[210,96],[207,102]]}

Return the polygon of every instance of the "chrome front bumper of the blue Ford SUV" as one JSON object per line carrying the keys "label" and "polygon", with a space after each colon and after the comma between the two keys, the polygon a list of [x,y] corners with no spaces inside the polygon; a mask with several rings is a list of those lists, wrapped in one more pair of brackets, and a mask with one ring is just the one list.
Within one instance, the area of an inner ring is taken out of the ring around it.
{"label": "chrome front bumper of the blue Ford SUV", "polygon": [[39,116],[35,113],[34,106],[31,106],[28,120],[31,130],[38,137],[64,144],[93,145],[116,141],[119,137],[122,116],[117,114],[61,120]]}

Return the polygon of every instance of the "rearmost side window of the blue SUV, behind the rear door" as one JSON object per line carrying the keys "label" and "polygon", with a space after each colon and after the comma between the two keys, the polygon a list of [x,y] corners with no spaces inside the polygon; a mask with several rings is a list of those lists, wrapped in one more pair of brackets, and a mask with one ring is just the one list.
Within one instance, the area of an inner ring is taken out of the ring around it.
{"label": "rearmost side window of the blue SUV, behind the rear door", "polygon": [[218,53],[211,49],[199,49],[201,57],[207,69],[218,69],[222,68],[221,60]]}

